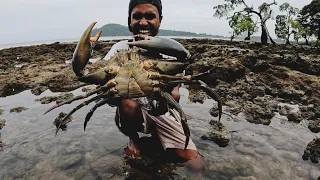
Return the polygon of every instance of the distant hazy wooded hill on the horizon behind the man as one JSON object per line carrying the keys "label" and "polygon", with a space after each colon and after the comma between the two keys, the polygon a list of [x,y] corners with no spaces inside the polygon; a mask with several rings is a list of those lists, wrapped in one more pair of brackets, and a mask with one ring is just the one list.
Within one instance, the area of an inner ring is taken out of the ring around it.
{"label": "distant hazy wooded hill on the horizon behind the man", "polygon": [[[95,35],[99,30],[102,30],[101,36],[132,36],[132,33],[129,31],[127,26],[123,26],[120,24],[106,24],[101,28],[96,28],[92,30],[92,34]],[[193,33],[186,31],[175,31],[175,30],[167,30],[160,29],[160,36],[190,36],[190,37],[215,37],[215,38],[223,38],[223,36],[216,36],[211,34],[204,33]]]}

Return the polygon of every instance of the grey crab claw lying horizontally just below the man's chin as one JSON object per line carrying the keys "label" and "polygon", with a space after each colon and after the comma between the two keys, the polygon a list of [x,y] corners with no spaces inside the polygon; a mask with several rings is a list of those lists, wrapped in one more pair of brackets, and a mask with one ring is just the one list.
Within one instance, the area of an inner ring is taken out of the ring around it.
{"label": "grey crab claw lying horizontally just below the man's chin", "polygon": [[144,39],[128,42],[128,45],[177,57],[178,60],[189,59],[191,56],[190,52],[182,44],[173,39],[163,37],[148,37]]}

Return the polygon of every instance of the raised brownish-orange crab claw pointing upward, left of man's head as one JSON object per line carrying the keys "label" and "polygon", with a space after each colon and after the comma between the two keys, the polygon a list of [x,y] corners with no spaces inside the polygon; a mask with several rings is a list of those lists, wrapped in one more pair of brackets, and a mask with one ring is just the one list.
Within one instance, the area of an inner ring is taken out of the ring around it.
{"label": "raised brownish-orange crab claw pointing upward, left of man's head", "polygon": [[73,53],[73,58],[72,58],[72,69],[73,72],[78,76],[82,77],[83,76],[83,70],[84,67],[87,65],[90,57],[91,57],[91,52],[92,52],[92,46],[96,44],[98,41],[100,35],[101,35],[101,30],[99,33],[93,37],[90,38],[91,36],[91,31],[94,25],[97,22],[93,22],[82,34],[80,41],[77,44],[76,49],[74,50]]}

